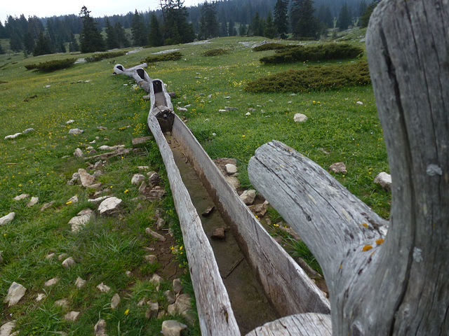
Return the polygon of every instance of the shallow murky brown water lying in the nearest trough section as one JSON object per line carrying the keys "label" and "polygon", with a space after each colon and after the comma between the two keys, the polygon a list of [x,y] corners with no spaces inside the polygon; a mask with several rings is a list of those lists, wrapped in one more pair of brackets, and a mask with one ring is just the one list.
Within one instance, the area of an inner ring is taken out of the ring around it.
{"label": "shallow murky brown water lying in the nearest trough section", "polygon": [[[194,167],[186,162],[180,147],[171,147],[182,181],[189,190],[196,211],[201,216],[203,211],[214,205],[212,197],[196,175]],[[269,304],[231,232],[226,232],[226,238],[222,240],[210,238],[216,228],[227,226],[222,216],[215,209],[210,216],[201,216],[201,222],[213,248],[218,269],[220,269],[220,275],[225,283],[242,335],[246,335],[264,323],[274,321],[277,318],[274,309]]]}

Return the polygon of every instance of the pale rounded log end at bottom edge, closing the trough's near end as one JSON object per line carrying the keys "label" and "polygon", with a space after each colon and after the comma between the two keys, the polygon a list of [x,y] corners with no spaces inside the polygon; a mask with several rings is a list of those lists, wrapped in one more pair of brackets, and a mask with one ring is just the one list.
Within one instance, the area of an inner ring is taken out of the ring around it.
{"label": "pale rounded log end at bottom edge, closing the trough's near end", "polygon": [[265,323],[246,336],[331,336],[330,315],[297,314]]}

